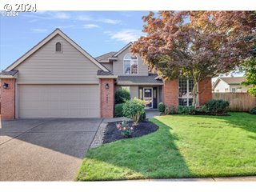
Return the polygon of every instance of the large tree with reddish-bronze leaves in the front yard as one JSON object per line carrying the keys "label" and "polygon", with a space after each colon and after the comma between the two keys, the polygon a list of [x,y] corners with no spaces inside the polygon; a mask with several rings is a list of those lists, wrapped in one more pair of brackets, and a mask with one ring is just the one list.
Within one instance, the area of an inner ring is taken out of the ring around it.
{"label": "large tree with reddish-bronze leaves in the front yard", "polygon": [[255,11],[160,11],[143,17],[141,37],[131,47],[151,69],[168,79],[192,78],[193,106],[198,82],[234,70],[246,58],[256,26]]}

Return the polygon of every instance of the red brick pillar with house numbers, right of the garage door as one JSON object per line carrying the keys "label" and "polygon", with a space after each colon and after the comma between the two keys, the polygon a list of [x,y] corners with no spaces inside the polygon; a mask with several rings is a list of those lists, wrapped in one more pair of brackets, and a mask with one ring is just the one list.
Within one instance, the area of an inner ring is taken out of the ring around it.
{"label": "red brick pillar with house numbers, right of the garage door", "polygon": [[[101,78],[100,81],[100,108],[101,118],[114,117],[114,78]],[[106,89],[106,84],[109,88]]]}

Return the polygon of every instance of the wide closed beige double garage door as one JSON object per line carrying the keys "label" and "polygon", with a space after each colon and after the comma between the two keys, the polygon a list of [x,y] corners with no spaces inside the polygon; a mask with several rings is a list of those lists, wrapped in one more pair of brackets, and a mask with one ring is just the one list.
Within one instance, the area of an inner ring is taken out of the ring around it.
{"label": "wide closed beige double garage door", "polygon": [[19,118],[99,118],[98,85],[19,85]]}

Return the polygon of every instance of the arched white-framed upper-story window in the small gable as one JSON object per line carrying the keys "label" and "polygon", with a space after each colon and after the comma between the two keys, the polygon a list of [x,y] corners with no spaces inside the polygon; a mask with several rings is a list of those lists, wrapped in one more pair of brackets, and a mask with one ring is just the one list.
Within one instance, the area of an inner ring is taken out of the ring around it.
{"label": "arched white-framed upper-story window in the small gable", "polygon": [[123,58],[123,74],[138,74],[138,58],[136,55],[125,55]]}

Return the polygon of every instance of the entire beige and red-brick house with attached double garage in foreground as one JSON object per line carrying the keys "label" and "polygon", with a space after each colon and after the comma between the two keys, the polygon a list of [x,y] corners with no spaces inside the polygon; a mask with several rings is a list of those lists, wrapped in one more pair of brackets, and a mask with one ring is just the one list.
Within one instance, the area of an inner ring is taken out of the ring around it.
{"label": "entire beige and red-brick house with attached double garage in foreground", "polygon": [[[111,118],[114,90],[126,87],[146,108],[190,105],[193,82],[151,74],[129,43],[98,58],[56,29],[0,74],[2,118]],[[5,85],[5,86],[3,86]],[[211,98],[211,80],[199,83],[199,105]]]}

